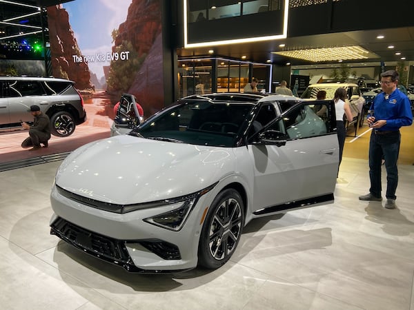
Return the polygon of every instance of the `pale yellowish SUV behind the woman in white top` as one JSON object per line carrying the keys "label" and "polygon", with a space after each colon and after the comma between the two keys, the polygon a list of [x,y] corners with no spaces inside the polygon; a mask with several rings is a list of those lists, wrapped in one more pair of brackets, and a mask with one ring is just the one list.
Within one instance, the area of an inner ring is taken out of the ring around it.
{"label": "pale yellowish SUV behind the woman in white top", "polygon": [[362,97],[359,86],[354,83],[317,83],[309,85],[304,93],[302,94],[302,99],[316,99],[316,94],[319,90],[326,91],[326,99],[333,99],[335,91],[339,87],[344,87],[348,94],[348,103],[351,107],[351,112],[353,116],[353,121],[350,123],[344,117],[345,128],[348,130],[349,125],[354,125],[355,134],[357,136],[357,127],[362,127],[364,124],[364,103],[365,99]]}

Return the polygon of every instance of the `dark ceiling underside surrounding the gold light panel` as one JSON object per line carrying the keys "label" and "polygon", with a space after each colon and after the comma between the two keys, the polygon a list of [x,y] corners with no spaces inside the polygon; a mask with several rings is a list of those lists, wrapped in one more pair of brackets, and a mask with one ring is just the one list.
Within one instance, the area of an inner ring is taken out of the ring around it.
{"label": "dark ceiling underside surrounding the gold light panel", "polygon": [[[380,34],[384,36],[384,39],[377,39],[377,36]],[[279,44],[282,43],[285,44],[284,48],[279,47]],[[235,59],[242,59],[242,56],[246,56],[246,60],[259,63],[264,63],[270,59],[272,63],[279,63],[281,65],[288,62],[291,63],[291,65],[311,65],[317,63],[287,58],[285,56],[272,54],[271,52],[282,50],[300,50],[306,48],[332,48],[346,45],[359,45],[369,52],[373,52],[378,55],[377,58],[357,60],[357,62],[395,62],[402,61],[401,57],[403,56],[406,58],[405,61],[414,61],[414,27],[315,34],[273,41],[182,49],[179,50],[178,54],[179,56],[184,57],[208,55],[208,50],[213,48],[215,55],[231,56]],[[388,48],[391,45],[394,46],[394,48]],[[395,54],[397,52],[400,52],[401,54]]]}

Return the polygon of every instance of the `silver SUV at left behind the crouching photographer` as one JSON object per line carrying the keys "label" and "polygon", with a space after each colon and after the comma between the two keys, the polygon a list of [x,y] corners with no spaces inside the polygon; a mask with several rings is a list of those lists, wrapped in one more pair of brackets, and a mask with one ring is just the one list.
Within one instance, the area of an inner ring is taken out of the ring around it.
{"label": "silver SUV at left behind the crouching photographer", "polygon": [[51,133],[70,136],[86,121],[83,98],[66,79],[0,76],[0,131],[22,130],[21,121],[32,123],[30,105],[39,105],[50,118]]}

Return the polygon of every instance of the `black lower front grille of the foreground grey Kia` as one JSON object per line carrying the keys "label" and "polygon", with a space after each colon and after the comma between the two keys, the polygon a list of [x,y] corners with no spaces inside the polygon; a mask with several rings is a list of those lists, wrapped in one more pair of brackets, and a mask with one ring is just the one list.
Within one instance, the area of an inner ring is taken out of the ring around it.
{"label": "black lower front grille of the foreground grey Kia", "polygon": [[[111,262],[112,264],[124,267],[126,271],[139,273],[159,273],[159,272],[177,272],[176,271],[159,271],[159,270],[144,270],[134,265],[132,258],[126,249],[127,243],[139,243],[152,253],[165,260],[179,260],[181,255],[176,245],[164,242],[162,240],[117,240],[101,234],[97,234],[88,229],[84,229],[75,224],[57,218],[55,222],[50,225],[50,234],[58,236],[63,241],[70,243],[85,251],[86,253]],[[184,270],[179,270],[184,271]]]}

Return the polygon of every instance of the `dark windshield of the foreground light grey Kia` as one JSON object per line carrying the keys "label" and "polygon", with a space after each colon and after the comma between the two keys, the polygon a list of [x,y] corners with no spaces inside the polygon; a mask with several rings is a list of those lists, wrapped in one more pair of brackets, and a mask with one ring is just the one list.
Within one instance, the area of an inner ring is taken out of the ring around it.
{"label": "dark windshield of the foreground light grey Kia", "polygon": [[155,114],[130,132],[132,136],[234,147],[246,131],[255,103],[190,101]]}

